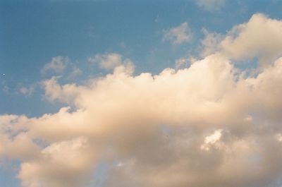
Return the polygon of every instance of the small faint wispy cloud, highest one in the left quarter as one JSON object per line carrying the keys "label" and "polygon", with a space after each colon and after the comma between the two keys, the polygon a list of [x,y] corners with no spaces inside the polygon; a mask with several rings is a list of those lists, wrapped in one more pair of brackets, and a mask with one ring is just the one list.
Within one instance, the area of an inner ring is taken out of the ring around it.
{"label": "small faint wispy cloud, highest one in the left quarter", "polygon": [[44,65],[41,70],[41,73],[43,75],[47,72],[61,74],[66,69],[68,61],[68,57],[55,56],[48,64]]}

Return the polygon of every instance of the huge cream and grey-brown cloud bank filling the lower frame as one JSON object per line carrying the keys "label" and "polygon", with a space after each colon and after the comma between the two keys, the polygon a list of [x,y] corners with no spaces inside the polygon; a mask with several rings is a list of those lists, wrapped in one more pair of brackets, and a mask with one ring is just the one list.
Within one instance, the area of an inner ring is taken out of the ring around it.
{"label": "huge cream and grey-brown cloud bank filling the lower frame", "polygon": [[282,185],[282,58],[256,76],[221,50],[157,75],[124,61],[84,85],[44,80],[71,107],[0,116],[0,157],[21,160],[23,186],[89,186],[101,162],[104,187]]}

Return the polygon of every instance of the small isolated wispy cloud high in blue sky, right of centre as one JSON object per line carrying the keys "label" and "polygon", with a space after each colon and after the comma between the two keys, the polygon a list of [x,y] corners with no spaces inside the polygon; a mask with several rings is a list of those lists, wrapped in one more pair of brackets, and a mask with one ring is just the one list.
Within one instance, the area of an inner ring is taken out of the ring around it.
{"label": "small isolated wispy cloud high in blue sky, right of centre", "polygon": [[188,27],[188,23],[181,23],[176,28],[170,28],[164,30],[164,40],[171,42],[172,44],[187,43],[192,40],[192,32]]}

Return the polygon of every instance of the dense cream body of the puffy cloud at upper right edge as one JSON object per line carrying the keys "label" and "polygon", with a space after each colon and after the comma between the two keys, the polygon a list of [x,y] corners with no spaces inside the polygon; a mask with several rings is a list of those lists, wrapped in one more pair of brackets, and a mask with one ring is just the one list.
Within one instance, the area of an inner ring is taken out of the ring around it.
{"label": "dense cream body of the puffy cloud at upper right edge", "polygon": [[[261,29],[262,27],[264,29]],[[263,61],[274,60],[281,56],[281,32],[281,20],[255,14],[248,23],[235,26],[228,32],[221,42],[221,47],[223,52],[233,59],[259,56]]]}

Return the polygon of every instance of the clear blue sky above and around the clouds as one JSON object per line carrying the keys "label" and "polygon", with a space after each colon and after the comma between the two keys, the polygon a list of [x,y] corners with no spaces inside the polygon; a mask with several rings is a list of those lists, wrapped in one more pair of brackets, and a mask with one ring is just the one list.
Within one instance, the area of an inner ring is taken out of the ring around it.
{"label": "clear blue sky above and around the clouds", "polygon": [[[43,81],[58,76],[61,85],[87,85],[115,68],[99,64],[108,58],[103,55],[116,54],[113,58],[121,58],[118,64],[126,64],[128,59],[135,66],[134,76],[144,72],[158,75],[166,68],[176,68],[179,59],[188,64],[192,60],[185,59],[204,59],[205,30],[224,38],[235,25],[247,23],[256,13],[281,20],[281,12],[278,0],[1,0],[0,115],[32,118],[76,106],[48,98]],[[173,28],[183,23],[187,40],[176,42]],[[258,29],[264,30],[263,25]],[[62,58],[61,70],[46,65],[56,56]],[[249,62],[234,65],[243,70],[259,61],[259,55],[232,58]],[[8,160],[2,167],[0,159],[0,186],[20,186],[15,178],[18,159]]]}

